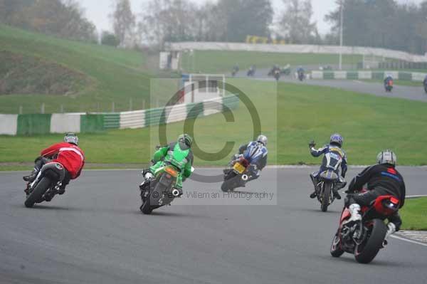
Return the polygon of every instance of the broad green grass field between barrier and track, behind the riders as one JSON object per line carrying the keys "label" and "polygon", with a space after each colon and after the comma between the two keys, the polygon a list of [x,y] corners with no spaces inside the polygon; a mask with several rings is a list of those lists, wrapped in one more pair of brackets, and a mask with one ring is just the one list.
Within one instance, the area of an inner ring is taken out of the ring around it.
{"label": "broad green grass field between barrier and track, behind the riders", "polygon": [[[320,159],[310,157],[307,143],[314,139],[320,147],[332,132],[344,135],[349,164],[371,164],[377,152],[386,148],[398,154],[399,164],[427,164],[425,102],[289,83],[247,79],[229,83],[241,88],[258,109],[262,131],[269,136],[269,164],[319,164]],[[199,147],[218,152],[226,141],[236,141],[236,151],[238,144],[248,142],[253,135],[251,116],[242,104],[233,115],[236,122],[226,122],[221,114],[196,120]],[[175,140],[183,129],[184,122],[168,125],[168,140]],[[80,142],[90,163],[139,164],[149,161],[158,133],[157,127],[112,130],[82,134]],[[1,136],[0,162],[31,162],[41,148],[61,138]],[[196,157],[195,165],[223,165],[229,156],[216,156],[212,161]]]}

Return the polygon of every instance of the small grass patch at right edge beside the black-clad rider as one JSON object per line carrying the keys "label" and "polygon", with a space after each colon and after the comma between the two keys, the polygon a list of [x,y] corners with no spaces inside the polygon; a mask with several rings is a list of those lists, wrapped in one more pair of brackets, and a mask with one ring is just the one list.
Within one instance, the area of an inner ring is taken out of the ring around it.
{"label": "small grass patch at right edge beside the black-clad rider", "polygon": [[407,199],[399,214],[402,230],[427,231],[427,198]]}

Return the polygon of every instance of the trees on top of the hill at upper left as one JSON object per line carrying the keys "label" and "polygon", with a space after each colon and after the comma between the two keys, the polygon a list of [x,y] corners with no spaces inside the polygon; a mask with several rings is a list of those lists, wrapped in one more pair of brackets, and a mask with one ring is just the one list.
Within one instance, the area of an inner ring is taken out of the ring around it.
{"label": "trees on top of the hill at upper left", "polygon": [[75,0],[0,0],[0,23],[78,41],[97,41],[95,25]]}

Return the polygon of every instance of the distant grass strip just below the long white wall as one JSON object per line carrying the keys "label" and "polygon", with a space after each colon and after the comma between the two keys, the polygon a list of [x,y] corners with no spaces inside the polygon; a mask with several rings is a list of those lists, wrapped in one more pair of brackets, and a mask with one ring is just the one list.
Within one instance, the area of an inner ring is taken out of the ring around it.
{"label": "distant grass strip just below the long white wall", "polygon": [[[257,68],[270,68],[274,64],[326,65],[338,64],[339,57],[335,54],[300,54],[300,53],[266,53],[256,51],[194,51],[184,53],[182,68],[190,73],[231,73],[233,65],[238,63],[241,71],[246,72],[251,65]],[[344,56],[344,64],[357,65],[362,56]]]}

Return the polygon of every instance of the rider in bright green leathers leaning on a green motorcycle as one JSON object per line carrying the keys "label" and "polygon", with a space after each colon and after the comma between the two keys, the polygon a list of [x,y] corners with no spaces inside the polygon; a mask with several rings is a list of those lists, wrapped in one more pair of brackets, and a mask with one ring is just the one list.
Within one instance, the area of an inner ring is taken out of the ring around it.
{"label": "rider in bright green leathers leaning on a green motorcycle", "polygon": [[154,165],[149,167],[149,169],[144,169],[142,172],[145,181],[141,186],[152,179],[157,174],[157,171],[162,169],[162,167],[167,164],[172,164],[179,169],[179,175],[176,178],[176,184],[174,187],[182,193],[182,182],[191,176],[191,168],[193,166],[193,152],[191,152],[191,144],[193,144],[191,136],[184,134],[178,137],[177,142],[170,143],[167,146],[158,149],[154,153],[154,157],[152,159]]}

